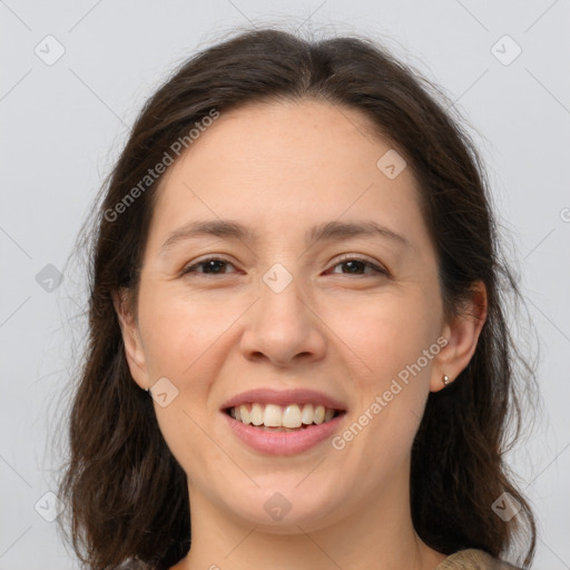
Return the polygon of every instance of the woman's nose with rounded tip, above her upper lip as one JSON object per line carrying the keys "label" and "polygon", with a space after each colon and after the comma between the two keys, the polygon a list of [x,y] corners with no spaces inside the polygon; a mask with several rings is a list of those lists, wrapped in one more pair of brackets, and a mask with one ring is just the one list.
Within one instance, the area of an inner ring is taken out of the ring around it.
{"label": "woman's nose with rounded tip, above her upper lip", "polygon": [[261,283],[259,299],[247,312],[240,340],[246,358],[268,360],[279,367],[323,358],[326,326],[312,303],[302,297],[296,279],[279,293]]}

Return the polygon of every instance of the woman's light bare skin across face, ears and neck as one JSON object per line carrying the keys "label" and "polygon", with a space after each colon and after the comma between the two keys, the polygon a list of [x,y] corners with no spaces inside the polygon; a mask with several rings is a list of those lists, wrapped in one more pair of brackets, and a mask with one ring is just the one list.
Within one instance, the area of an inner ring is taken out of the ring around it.
{"label": "woman's light bare skin across face, ears and neck", "polygon": [[[392,146],[367,127],[357,110],[324,102],[243,107],[161,180],[136,309],[115,303],[134,380],[147,389],[166,376],[178,390],[166,407],[155,402],[191,504],[191,549],[174,569],[431,570],[445,558],[412,524],[411,446],[429,393],[473,355],[485,292],[476,284],[465,313],[445,321],[416,181],[410,168],[389,179],[376,167]],[[202,236],[160,254],[174,229],[217,218],[250,226],[258,242]],[[372,219],[410,245],[348,237],[307,248],[305,230],[336,219]],[[351,273],[342,254],[390,276],[362,264]],[[206,255],[228,265],[180,275]],[[275,263],[293,277],[281,293],[263,281]],[[342,450],[264,455],[219,411],[245,390],[309,387],[345,403],[344,430],[439,337],[446,346]],[[264,509],[276,492],[292,507],[281,521]]]}

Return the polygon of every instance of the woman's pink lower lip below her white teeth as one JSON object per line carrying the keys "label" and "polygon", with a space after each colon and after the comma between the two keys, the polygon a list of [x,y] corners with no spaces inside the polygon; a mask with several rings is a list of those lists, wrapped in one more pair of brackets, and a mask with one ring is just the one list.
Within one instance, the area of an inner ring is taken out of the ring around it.
{"label": "woman's pink lower lip below her white teeth", "polygon": [[313,424],[296,432],[272,432],[246,425],[225,412],[222,413],[229,422],[229,428],[245,444],[269,455],[295,455],[314,448],[331,438],[346,415],[344,412],[328,422]]}

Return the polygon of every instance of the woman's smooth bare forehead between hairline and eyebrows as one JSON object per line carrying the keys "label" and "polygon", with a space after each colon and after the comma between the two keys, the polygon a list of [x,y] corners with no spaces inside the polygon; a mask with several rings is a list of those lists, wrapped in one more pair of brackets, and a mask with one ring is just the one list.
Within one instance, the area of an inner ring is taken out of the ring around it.
{"label": "woman's smooth bare forehead between hairline and eyebrows", "polygon": [[422,220],[411,169],[391,179],[377,166],[392,147],[360,111],[328,102],[222,112],[164,176],[151,235],[230,218],[285,239],[343,216],[376,216],[413,233]]}

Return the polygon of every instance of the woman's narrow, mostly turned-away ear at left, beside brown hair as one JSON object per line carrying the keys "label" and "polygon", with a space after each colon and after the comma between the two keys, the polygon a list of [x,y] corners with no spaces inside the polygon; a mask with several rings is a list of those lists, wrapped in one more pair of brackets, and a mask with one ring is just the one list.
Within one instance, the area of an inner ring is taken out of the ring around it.
{"label": "woman's narrow, mostly turned-away ear at left, beside brown hair", "polygon": [[150,386],[150,383],[148,381],[145,350],[140,340],[137,317],[130,306],[128,295],[129,292],[125,288],[114,291],[112,305],[119,320],[130,375],[142,390],[146,390]]}

